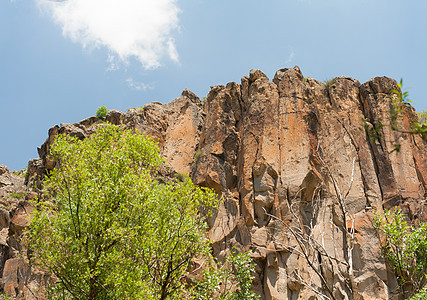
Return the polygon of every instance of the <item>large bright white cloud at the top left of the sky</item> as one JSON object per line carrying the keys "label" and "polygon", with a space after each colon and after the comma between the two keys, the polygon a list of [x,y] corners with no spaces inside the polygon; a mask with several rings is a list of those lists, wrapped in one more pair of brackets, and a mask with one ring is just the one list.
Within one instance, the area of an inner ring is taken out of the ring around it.
{"label": "large bright white cloud at the top left of the sky", "polygon": [[178,62],[173,33],[179,29],[177,0],[37,0],[84,48],[107,47],[110,69],[131,57],[144,68],[164,57]]}

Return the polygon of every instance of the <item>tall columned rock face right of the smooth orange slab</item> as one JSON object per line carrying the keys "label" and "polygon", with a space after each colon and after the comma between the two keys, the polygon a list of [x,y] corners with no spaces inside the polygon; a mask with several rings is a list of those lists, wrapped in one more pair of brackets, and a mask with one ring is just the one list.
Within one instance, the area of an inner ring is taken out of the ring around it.
{"label": "tall columned rock face right of the smooth orange slab", "polygon": [[[306,285],[324,291],[298,251],[292,226],[302,226],[313,243],[322,245],[326,256],[322,261],[311,253],[312,263],[321,265],[336,299],[396,295],[373,211],[400,206],[422,215],[427,145],[389,126],[379,130],[375,142],[361,130],[362,118],[370,126],[378,127],[380,119],[391,123],[393,89],[397,83],[385,77],[363,85],[337,77],[325,85],[304,78],[298,67],[277,71],[272,82],[252,70],[240,85],[212,88],[192,177],[225,196],[210,231],[216,254],[226,255],[234,246],[251,249],[262,299],[315,298]],[[402,129],[409,130],[414,121],[407,108]],[[396,145],[399,152],[392,151]],[[345,195],[345,218],[338,194]],[[344,230],[354,230],[353,288],[348,269],[337,263],[349,260]]]}

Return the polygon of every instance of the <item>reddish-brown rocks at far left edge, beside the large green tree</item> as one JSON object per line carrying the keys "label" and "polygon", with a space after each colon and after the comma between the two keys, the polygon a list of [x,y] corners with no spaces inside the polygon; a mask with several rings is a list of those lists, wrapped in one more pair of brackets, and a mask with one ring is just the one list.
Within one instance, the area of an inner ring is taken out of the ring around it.
{"label": "reddish-brown rocks at far left edge, beside the large green tree", "polygon": [[1,288],[12,299],[36,300],[46,291],[47,276],[31,268],[23,243],[36,193],[24,185],[23,174],[0,165],[0,274]]}

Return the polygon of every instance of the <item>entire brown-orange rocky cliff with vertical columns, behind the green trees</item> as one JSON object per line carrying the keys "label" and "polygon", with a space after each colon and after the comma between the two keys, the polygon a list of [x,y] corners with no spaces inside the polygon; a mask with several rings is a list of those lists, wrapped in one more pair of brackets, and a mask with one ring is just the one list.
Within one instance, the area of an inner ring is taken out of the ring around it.
{"label": "entire brown-orange rocky cliff with vertical columns, behind the green trees", "polygon": [[[211,87],[204,103],[185,90],[168,104],[112,110],[106,119],[154,137],[170,167],[223,196],[209,220],[214,252],[222,258],[233,246],[250,250],[261,299],[316,299],[326,289],[335,299],[398,299],[373,212],[399,206],[413,222],[427,220],[427,143],[378,126],[392,122],[393,89],[397,83],[386,77],[323,84],[298,67],[277,71],[272,81],[251,70],[240,84]],[[367,136],[362,118],[379,139]],[[406,129],[415,120],[409,107],[399,119]],[[29,162],[28,187],[6,171],[4,184],[0,174],[0,200],[9,205],[0,224],[4,290],[33,299],[30,286],[46,284],[16,242],[28,223],[30,187],[54,168],[47,154],[57,134],[84,138],[99,122],[51,128],[40,158]],[[392,151],[397,144],[400,151]],[[13,189],[26,196],[10,201]]]}

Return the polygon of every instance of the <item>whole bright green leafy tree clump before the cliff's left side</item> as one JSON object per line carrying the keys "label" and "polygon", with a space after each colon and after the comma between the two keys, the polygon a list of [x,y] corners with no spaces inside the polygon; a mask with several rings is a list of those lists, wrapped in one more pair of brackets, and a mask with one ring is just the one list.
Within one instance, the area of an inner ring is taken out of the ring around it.
{"label": "whole bright green leafy tree clump before the cliff's left side", "polygon": [[28,232],[32,260],[57,278],[52,298],[177,299],[204,238],[216,197],[183,179],[158,179],[163,164],[144,135],[105,125],[91,137],[58,136],[57,168]]}

